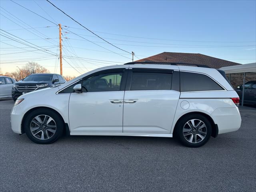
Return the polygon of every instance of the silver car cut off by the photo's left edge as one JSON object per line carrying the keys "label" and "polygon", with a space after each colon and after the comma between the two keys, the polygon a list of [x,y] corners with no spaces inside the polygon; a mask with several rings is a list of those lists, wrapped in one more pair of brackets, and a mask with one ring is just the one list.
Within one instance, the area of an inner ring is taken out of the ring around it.
{"label": "silver car cut off by the photo's left edge", "polygon": [[12,86],[15,82],[14,78],[0,76],[0,99],[12,97]]}

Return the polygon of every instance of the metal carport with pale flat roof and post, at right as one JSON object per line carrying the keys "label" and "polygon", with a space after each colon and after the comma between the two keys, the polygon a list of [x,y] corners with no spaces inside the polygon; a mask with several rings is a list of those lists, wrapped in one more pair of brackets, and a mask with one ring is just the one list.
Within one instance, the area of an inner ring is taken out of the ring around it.
{"label": "metal carport with pale flat roof and post, at right", "polygon": [[[220,70],[223,70],[226,74],[230,74],[229,78],[231,78],[231,74],[233,73],[243,73],[243,90],[242,90],[242,106],[244,106],[244,84],[246,73],[255,73],[256,72],[256,63],[248,63],[242,65],[234,65],[228,67],[222,67]],[[230,79],[229,79],[230,80]]]}

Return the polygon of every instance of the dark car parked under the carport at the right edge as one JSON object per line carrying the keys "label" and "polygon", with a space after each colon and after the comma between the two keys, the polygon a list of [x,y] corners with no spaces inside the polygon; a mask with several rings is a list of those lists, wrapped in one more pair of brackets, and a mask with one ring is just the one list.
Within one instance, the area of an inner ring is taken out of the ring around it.
{"label": "dark car parked under the carport at the right edge", "polygon": [[[241,103],[243,85],[238,86],[236,92],[240,98]],[[248,81],[244,84],[244,103],[256,105],[256,81]]]}

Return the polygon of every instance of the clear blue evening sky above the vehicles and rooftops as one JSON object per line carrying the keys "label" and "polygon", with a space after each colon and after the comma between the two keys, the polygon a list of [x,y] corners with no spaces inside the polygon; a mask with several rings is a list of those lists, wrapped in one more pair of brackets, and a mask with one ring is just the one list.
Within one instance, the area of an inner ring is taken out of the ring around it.
{"label": "clear blue evening sky above the vehicles and rooftops", "polygon": [[241,64],[256,62],[255,0],[51,0],[83,26],[122,50],[104,42],[45,0],[14,1],[52,22],[10,0],[0,0],[2,73],[15,71],[28,61],[60,73],[56,25],[59,23],[64,76],[78,76],[102,66],[131,62],[132,51],[136,56],[134,60],[162,52],[185,52]]}

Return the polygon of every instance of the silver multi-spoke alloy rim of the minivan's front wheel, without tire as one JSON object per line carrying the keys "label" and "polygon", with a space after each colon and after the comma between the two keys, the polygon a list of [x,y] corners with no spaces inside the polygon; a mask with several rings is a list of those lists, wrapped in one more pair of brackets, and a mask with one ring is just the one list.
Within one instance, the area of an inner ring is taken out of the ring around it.
{"label": "silver multi-spoke alloy rim of the minivan's front wheel, without tire", "polygon": [[38,115],[30,122],[30,132],[40,140],[47,140],[56,132],[56,122],[48,115]]}

